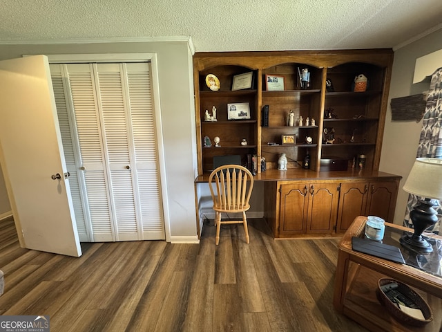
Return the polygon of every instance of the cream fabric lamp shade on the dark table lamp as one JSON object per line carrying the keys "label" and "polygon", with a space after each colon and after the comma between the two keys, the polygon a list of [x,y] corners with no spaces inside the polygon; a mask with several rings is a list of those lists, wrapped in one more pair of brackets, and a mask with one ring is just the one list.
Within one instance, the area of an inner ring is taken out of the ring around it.
{"label": "cream fabric lamp shade on the dark table lamp", "polygon": [[416,158],[403,190],[425,199],[442,199],[442,159]]}

